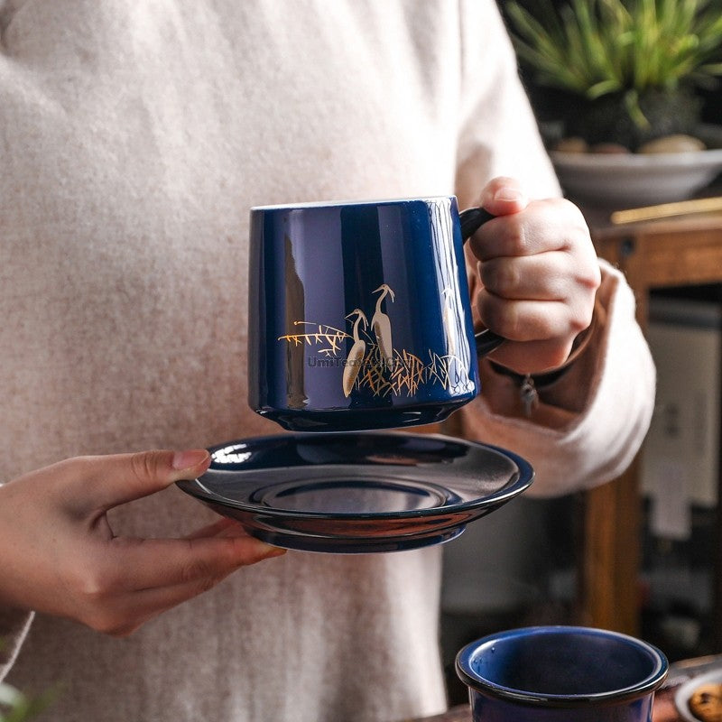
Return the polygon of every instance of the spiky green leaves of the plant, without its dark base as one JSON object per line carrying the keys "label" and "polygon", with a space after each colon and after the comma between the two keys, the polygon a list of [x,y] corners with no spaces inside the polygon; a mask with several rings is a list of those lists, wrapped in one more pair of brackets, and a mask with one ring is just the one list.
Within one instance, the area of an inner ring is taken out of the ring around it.
{"label": "spiky green leaves of the plant, without its dark base", "polygon": [[519,60],[537,83],[588,105],[614,98],[637,128],[650,125],[648,98],[722,74],[720,0],[568,0],[559,8],[538,0],[534,8],[505,5]]}

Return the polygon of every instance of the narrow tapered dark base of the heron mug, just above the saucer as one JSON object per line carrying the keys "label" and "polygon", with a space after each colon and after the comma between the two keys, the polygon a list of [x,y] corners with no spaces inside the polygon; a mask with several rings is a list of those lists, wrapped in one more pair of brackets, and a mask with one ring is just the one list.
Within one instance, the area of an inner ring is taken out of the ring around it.
{"label": "narrow tapered dark base of the heron mug, just above the saucer", "polygon": [[365,431],[375,429],[402,429],[444,421],[451,412],[471,401],[473,396],[454,403],[430,403],[395,409],[255,409],[289,431]]}

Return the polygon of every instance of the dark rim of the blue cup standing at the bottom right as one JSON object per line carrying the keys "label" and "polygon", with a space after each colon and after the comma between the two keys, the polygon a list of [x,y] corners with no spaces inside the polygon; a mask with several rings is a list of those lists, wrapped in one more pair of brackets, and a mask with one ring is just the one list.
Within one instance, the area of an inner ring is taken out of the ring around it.
{"label": "dark rim of the blue cup standing at the bottom right", "polygon": [[[629,643],[643,652],[650,655],[653,660],[653,670],[643,679],[629,687],[605,692],[594,692],[590,694],[543,694],[525,690],[514,690],[486,680],[472,667],[479,653],[492,647],[495,643],[514,636],[528,634],[589,634],[593,636],[614,637],[619,641]],[[511,629],[497,634],[489,634],[474,642],[468,643],[457,654],[456,671],[459,679],[467,685],[470,690],[490,695],[497,699],[503,699],[516,704],[523,704],[532,707],[555,707],[555,708],[579,708],[604,703],[624,702],[630,699],[644,697],[657,690],[667,677],[669,662],[660,649],[653,644],[644,642],[629,634],[613,632],[607,629],[576,625],[545,625],[529,626]]]}

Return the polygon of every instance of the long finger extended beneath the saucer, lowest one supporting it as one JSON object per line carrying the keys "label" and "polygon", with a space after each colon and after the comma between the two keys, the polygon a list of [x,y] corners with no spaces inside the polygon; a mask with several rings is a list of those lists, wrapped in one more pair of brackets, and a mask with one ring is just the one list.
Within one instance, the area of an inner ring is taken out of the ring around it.
{"label": "long finger extended beneath the saucer, lowest one supporting it", "polygon": [[116,553],[108,558],[123,569],[125,588],[136,591],[221,578],[285,553],[247,534],[195,539],[116,538],[112,543]]}

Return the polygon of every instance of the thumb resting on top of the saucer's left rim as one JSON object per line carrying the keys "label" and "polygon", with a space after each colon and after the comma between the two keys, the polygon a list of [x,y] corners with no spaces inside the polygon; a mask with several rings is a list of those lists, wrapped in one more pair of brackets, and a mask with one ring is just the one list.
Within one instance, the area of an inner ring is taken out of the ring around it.
{"label": "thumb resting on top of the saucer's left rim", "polygon": [[207,450],[190,449],[72,458],[58,466],[68,504],[88,514],[154,494],[179,479],[198,477],[209,464]]}

